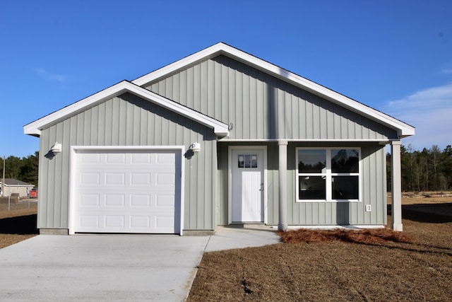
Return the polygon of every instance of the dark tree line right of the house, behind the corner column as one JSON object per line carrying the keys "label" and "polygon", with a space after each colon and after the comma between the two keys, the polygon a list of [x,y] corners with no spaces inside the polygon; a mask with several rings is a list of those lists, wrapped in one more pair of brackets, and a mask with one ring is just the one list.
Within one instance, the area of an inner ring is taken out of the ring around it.
{"label": "dark tree line right of the house, behind the corner column", "polygon": [[[414,150],[411,144],[401,146],[400,164],[402,191],[448,191],[452,190],[452,147],[444,150],[433,145],[422,151]],[[388,191],[391,190],[391,154],[386,154]]]}

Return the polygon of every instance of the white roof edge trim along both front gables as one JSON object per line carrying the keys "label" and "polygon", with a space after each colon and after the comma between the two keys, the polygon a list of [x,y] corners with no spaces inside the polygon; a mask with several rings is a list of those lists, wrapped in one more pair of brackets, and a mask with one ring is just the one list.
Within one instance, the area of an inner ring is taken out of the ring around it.
{"label": "white roof edge trim along both front gables", "polygon": [[343,108],[347,108],[347,110],[367,117],[369,120],[374,120],[375,122],[386,125],[386,127],[396,130],[398,132],[399,138],[408,137],[415,134],[415,127],[412,127],[405,122],[397,120],[396,118],[386,115],[379,110],[370,108],[369,106],[359,103],[356,100],[347,98],[345,95],[332,91],[331,89],[321,86],[318,83],[309,81],[302,76],[293,74],[286,69],[266,62],[263,59],[259,59],[258,57],[254,57],[251,54],[243,52],[242,50],[238,50],[237,48],[234,48],[222,42],[201,50],[200,52],[191,54],[184,59],[180,59],[153,72],[150,72],[149,74],[141,76],[131,82],[121,81],[114,86],[90,95],[88,98],[79,100],[78,102],[66,106],[61,110],[57,110],[56,112],[42,117],[35,122],[26,124],[23,127],[24,133],[39,137],[41,130],[45,127],[56,124],[61,120],[65,120],[68,117],[76,115],[78,112],[93,107],[98,103],[102,103],[102,101],[104,100],[121,95],[122,93],[130,92],[138,95],[141,98],[144,98],[145,100],[156,103],[157,105],[161,105],[164,108],[177,112],[181,115],[184,115],[185,117],[189,117],[196,122],[204,124],[205,126],[212,128],[215,134],[220,137],[227,137],[229,135],[227,124],[215,120],[212,117],[208,117],[207,115],[203,115],[201,112],[187,108],[184,105],[180,105],[179,103],[169,100],[168,98],[164,98],[161,95],[157,95],[141,87],[147,83],[150,83],[151,81],[161,79],[162,77],[173,74],[180,69],[184,69],[206,59],[217,57],[218,55],[225,55],[227,57],[235,59],[253,68],[263,71],[270,76],[275,76],[276,78],[302,88],[305,91],[309,91],[314,95],[319,95],[321,98],[329,100],[332,103],[340,105]]}

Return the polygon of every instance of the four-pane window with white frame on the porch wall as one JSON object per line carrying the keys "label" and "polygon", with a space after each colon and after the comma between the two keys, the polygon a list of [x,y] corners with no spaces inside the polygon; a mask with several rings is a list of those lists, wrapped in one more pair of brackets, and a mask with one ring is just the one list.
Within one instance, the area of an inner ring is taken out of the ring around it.
{"label": "four-pane window with white frame on the porch wall", "polygon": [[358,202],[359,149],[297,149],[298,202]]}

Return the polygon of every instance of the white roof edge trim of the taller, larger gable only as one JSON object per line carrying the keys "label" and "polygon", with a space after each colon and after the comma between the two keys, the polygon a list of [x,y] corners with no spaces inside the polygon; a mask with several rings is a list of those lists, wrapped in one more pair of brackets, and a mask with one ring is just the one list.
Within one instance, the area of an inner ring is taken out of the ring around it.
{"label": "white roof edge trim of the taller, larger gable only", "polygon": [[400,138],[415,134],[415,127],[412,127],[405,122],[397,120],[396,118],[386,115],[379,110],[375,110],[374,108],[370,108],[369,106],[359,103],[356,100],[347,98],[345,95],[332,91],[331,89],[321,86],[318,83],[309,81],[302,76],[266,62],[263,59],[259,59],[258,57],[254,57],[251,54],[243,52],[242,50],[238,50],[237,48],[234,48],[223,42],[210,46],[204,50],[201,50],[200,52],[191,54],[184,59],[180,59],[172,64],[150,72],[150,74],[141,76],[138,79],[133,80],[132,83],[138,86],[143,86],[147,83],[150,83],[151,81],[155,81],[156,79],[160,79],[169,74],[173,74],[174,72],[180,69],[184,69],[187,66],[191,66],[206,59],[217,57],[221,54],[232,59],[236,59],[237,61],[242,62],[246,65],[252,66],[258,70],[265,72],[266,74],[275,76],[278,79],[291,83],[292,85],[309,91],[310,93],[319,95],[321,98],[325,98],[332,103],[356,112],[357,114],[367,117],[370,120],[374,120],[375,122],[384,124],[391,129],[395,129],[398,132],[398,137]]}

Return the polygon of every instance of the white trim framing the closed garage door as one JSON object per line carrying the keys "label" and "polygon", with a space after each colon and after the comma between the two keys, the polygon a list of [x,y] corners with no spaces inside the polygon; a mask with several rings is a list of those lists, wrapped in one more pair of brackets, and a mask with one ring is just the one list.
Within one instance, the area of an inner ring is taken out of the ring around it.
{"label": "white trim framing the closed garage door", "polygon": [[69,154],[69,206],[68,206],[68,227],[69,227],[69,235],[75,234],[74,232],[74,221],[73,221],[73,213],[75,211],[75,196],[71,187],[74,187],[74,183],[76,181],[76,152],[83,150],[93,150],[93,151],[108,151],[108,150],[174,150],[180,151],[181,156],[181,187],[180,187],[180,226],[179,226],[179,234],[183,235],[184,230],[184,187],[185,187],[185,165],[184,165],[184,153],[185,146],[71,146],[71,152]]}

